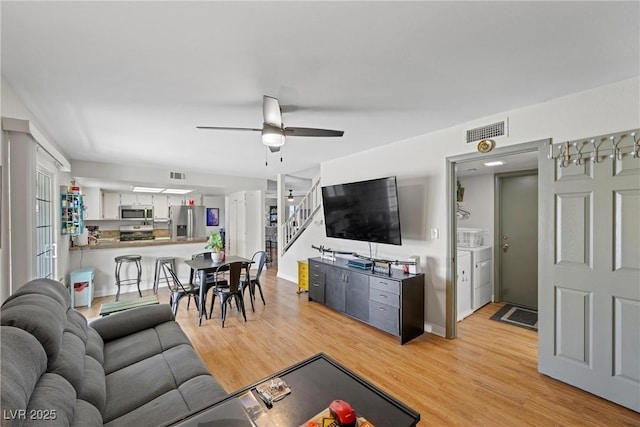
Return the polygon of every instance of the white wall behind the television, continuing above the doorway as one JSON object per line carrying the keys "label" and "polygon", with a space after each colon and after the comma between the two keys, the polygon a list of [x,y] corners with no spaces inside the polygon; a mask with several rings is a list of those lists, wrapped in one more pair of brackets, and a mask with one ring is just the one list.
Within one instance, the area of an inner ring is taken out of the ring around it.
{"label": "white wall behind the television, continuing above the doorway", "polygon": [[[496,140],[498,146],[507,146],[545,138],[558,142],[634,129],[640,126],[639,93],[640,76],[328,161],[321,165],[321,183],[330,185],[390,175],[398,177],[403,217],[417,217],[415,222],[423,223],[425,231],[437,228],[440,238],[431,239],[425,232],[422,236],[416,233],[412,239],[406,239],[403,231],[401,247],[377,245],[377,255],[406,259],[417,254],[421,256],[423,265],[426,261],[426,326],[427,330],[443,334],[446,324],[446,272],[450,263],[446,239],[446,157],[475,150],[475,144],[466,144],[465,131],[508,117],[509,136]],[[406,201],[414,193],[421,194],[424,200],[409,206]],[[279,275],[296,277],[296,261],[309,253],[313,255],[310,246],[306,246],[310,243],[368,252],[366,243],[327,239],[324,230],[312,229],[309,235],[308,239],[299,239],[281,257]]]}

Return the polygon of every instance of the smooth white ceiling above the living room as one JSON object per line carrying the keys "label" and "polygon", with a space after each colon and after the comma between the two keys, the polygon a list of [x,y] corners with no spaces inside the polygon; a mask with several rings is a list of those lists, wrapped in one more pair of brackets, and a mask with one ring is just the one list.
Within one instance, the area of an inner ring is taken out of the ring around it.
{"label": "smooth white ceiling above the living room", "polygon": [[[2,76],[71,159],[272,179],[636,76],[639,5],[2,1]],[[264,94],[345,136],[280,162],[195,128],[261,127]]]}

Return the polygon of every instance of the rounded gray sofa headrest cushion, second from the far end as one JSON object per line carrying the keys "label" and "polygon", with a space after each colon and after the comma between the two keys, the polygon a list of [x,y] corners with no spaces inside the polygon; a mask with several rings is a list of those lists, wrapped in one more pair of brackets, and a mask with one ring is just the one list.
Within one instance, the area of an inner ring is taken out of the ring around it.
{"label": "rounded gray sofa headrest cushion, second from the far end", "polygon": [[26,294],[5,301],[0,323],[29,332],[40,341],[47,359],[52,362],[60,351],[66,319],[66,309],[54,299],[45,295]]}

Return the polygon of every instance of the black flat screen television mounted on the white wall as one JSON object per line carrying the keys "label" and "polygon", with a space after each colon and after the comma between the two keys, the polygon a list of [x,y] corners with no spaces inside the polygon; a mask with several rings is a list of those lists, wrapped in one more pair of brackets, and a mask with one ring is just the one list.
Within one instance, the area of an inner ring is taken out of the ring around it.
{"label": "black flat screen television mounted on the white wall", "polygon": [[396,177],[322,187],[327,237],[402,245]]}

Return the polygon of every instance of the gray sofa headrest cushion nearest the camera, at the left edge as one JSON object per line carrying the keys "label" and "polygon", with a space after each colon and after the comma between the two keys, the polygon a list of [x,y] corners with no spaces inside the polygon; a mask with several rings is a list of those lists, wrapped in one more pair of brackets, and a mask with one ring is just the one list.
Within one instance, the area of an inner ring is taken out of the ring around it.
{"label": "gray sofa headrest cushion nearest the camera, at the left edge", "polygon": [[0,328],[0,397],[3,410],[26,409],[33,389],[47,369],[47,355],[37,339],[22,329]]}

